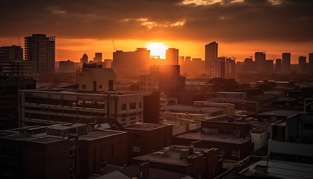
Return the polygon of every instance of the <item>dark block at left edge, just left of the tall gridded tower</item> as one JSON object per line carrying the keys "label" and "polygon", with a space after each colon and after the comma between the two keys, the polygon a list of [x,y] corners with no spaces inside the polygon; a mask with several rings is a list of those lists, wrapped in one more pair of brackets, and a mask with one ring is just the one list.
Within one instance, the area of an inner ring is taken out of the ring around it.
{"label": "dark block at left edge, just left of the tall gridded tower", "polygon": [[0,61],[22,61],[23,48],[20,46],[0,46]]}

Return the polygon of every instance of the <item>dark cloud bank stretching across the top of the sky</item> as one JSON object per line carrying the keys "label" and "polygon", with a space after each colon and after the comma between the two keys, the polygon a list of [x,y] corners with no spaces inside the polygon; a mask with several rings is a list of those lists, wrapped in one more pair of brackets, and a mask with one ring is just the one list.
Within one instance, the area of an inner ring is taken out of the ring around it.
{"label": "dark cloud bank stretching across the top of the sky", "polygon": [[62,38],[313,41],[312,6],[311,0],[207,5],[182,0],[7,0],[0,7],[0,37],[46,33]]}

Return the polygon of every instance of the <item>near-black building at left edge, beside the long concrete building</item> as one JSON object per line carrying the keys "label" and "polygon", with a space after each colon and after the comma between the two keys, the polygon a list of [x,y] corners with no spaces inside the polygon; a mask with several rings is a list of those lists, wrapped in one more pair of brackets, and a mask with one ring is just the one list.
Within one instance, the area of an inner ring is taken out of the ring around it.
{"label": "near-black building at left edge, beside the long concrete building", "polygon": [[0,75],[0,129],[18,127],[18,90],[35,88],[31,77]]}

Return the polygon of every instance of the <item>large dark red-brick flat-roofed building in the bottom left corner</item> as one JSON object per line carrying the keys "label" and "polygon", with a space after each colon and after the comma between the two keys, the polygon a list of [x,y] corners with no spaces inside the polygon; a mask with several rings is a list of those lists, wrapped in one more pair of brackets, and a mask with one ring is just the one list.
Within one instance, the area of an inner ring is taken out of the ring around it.
{"label": "large dark red-brick flat-roofed building in the bottom left corner", "polygon": [[0,141],[1,178],[88,178],[127,162],[126,132],[82,123],[2,130]]}

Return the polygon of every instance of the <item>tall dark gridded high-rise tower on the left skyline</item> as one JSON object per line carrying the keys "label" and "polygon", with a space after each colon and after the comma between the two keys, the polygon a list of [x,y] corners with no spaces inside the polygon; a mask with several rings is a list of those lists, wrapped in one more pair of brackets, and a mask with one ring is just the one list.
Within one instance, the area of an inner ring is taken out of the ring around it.
{"label": "tall dark gridded high-rise tower on the left skyline", "polygon": [[49,71],[54,73],[55,36],[32,34],[24,37],[25,60],[35,61],[36,72]]}

